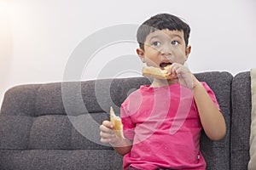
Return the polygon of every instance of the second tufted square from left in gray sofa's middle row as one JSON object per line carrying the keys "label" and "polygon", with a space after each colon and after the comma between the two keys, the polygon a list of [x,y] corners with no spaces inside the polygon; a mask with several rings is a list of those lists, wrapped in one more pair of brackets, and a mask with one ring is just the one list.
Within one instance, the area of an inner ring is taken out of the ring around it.
{"label": "second tufted square from left in gray sofa's middle row", "polygon": [[30,150],[70,149],[72,125],[67,116],[48,115],[33,118]]}

